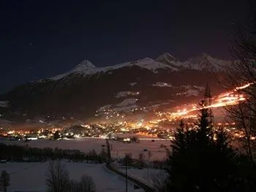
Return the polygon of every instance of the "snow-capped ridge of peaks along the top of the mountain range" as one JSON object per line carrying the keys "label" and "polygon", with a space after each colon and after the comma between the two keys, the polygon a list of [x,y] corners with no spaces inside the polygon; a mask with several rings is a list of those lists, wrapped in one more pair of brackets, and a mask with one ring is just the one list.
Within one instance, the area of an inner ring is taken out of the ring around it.
{"label": "snow-capped ridge of peaks along the top of the mountain range", "polygon": [[225,72],[227,66],[230,66],[230,61],[223,61],[213,58],[206,53],[202,53],[195,58],[189,58],[187,61],[178,61],[170,53],[164,53],[154,60],[152,58],[143,58],[136,61],[129,61],[123,64],[97,67],[91,64],[90,61],[85,60],[77,64],[73,69],[64,74],[59,74],[56,77],[51,77],[50,80],[60,80],[67,77],[69,74],[82,74],[84,76],[110,72],[124,67],[139,66],[141,69],[148,69],[151,72],[157,73],[159,69],[166,69],[169,72],[178,72],[184,69],[193,69],[208,72]]}

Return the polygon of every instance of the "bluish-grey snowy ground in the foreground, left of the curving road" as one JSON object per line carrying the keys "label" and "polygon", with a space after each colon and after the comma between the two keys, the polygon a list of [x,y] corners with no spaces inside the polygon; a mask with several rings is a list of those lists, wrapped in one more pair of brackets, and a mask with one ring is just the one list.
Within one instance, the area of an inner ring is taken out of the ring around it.
{"label": "bluish-grey snowy ground in the foreground, left of the curving road", "polygon": [[[125,191],[124,177],[110,172],[104,164],[65,163],[70,178],[79,180],[82,174],[90,175],[97,188],[97,192]],[[45,163],[7,163],[0,164],[0,170],[10,173],[11,191],[45,191],[45,172],[48,162]],[[133,190],[133,184],[128,183],[128,191]]]}

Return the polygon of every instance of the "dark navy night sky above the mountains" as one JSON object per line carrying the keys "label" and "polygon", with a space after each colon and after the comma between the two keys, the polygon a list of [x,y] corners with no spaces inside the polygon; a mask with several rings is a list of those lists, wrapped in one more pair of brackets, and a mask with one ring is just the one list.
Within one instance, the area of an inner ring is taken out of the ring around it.
{"label": "dark navy night sky above the mountains", "polygon": [[[252,5],[251,5],[252,7]],[[0,1],[0,93],[66,72],[172,53],[229,58],[246,0]]]}

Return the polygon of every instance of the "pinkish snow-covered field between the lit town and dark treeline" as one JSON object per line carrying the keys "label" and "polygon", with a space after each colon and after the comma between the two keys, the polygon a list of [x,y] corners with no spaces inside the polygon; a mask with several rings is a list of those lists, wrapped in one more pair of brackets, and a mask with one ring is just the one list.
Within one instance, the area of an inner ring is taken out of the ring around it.
{"label": "pinkish snow-covered field between the lit town and dark treeline", "polygon": [[[24,141],[9,141],[0,140],[7,145],[29,145],[29,147],[59,147],[62,149],[70,150],[80,150],[82,152],[89,152],[90,150],[95,150],[99,153],[102,150],[102,145],[106,145],[105,139],[95,139],[95,138],[83,138],[83,139],[70,139],[61,141],[52,140],[34,140],[31,142]],[[160,147],[162,145],[162,147]],[[111,153],[113,158],[123,158],[126,153],[132,153],[132,158],[138,158],[140,153],[145,155],[146,160],[148,160],[148,152],[144,150],[151,151],[150,160],[162,160],[166,158],[166,148],[170,149],[170,141],[168,140],[157,140],[154,142],[151,139],[140,140],[139,143],[124,143],[117,141],[110,141]]]}

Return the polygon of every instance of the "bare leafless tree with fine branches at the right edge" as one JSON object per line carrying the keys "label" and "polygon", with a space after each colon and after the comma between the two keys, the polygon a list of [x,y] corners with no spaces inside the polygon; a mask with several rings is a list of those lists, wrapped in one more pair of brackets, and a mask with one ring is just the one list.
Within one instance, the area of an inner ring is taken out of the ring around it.
{"label": "bare leafless tree with fine branches at the right edge", "polygon": [[241,85],[252,83],[248,88],[236,89],[236,94],[244,95],[244,101],[237,105],[226,107],[227,114],[237,127],[244,131],[241,148],[253,161],[255,158],[251,137],[256,134],[256,11],[249,13],[248,20],[236,28],[233,33],[233,44],[230,53],[235,59],[228,70],[225,88],[234,89]]}

